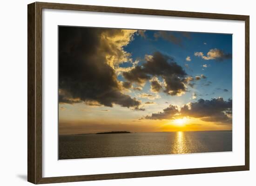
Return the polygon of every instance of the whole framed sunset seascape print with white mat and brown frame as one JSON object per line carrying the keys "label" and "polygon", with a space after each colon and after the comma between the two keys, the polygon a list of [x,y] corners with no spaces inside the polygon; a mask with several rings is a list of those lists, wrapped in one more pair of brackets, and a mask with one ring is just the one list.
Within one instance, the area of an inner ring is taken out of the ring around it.
{"label": "whole framed sunset seascape print with white mat and brown frame", "polygon": [[28,181],[249,170],[249,16],[28,5]]}

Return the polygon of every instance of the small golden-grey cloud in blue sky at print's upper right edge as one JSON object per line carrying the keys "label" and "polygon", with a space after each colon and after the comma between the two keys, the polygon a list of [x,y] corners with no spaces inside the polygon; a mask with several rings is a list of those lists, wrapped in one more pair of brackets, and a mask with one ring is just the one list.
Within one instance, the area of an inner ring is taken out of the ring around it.
{"label": "small golden-grey cloud in blue sky at print's upper right edge", "polygon": [[207,56],[204,56],[204,54],[202,52],[195,52],[194,53],[195,56],[201,57],[202,59],[205,60],[211,60],[211,59],[216,59],[218,61],[222,61],[224,59],[231,59],[232,58],[232,54],[230,53],[224,53],[224,51],[220,50],[220,49],[210,49],[207,52]]}

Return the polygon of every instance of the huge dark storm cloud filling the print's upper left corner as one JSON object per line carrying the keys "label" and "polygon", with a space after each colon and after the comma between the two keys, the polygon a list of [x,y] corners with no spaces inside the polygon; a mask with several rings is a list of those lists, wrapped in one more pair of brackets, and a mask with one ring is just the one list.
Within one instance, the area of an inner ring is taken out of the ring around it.
{"label": "huge dark storm cloud filling the print's upper left corner", "polygon": [[122,51],[114,51],[102,33],[106,38],[125,34],[118,29],[59,27],[59,102],[138,108],[141,102],[121,92],[115,70],[106,61],[107,54],[118,58]]}

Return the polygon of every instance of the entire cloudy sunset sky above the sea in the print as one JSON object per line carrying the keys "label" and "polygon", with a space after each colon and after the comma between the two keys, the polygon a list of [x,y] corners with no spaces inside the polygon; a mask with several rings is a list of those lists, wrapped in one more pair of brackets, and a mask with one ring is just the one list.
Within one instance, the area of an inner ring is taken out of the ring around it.
{"label": "entire cloudy sunset sky above the sea in the print", "polygon": [[59,134],[232,129],[232,34],[59,26]]}

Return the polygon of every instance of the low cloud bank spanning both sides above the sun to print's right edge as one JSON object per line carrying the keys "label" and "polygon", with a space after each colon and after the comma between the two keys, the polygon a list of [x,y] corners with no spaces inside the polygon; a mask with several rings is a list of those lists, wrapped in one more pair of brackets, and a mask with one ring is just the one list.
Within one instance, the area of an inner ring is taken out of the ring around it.
{"label": "low cloud bank spanning both sides above the sun to print's right edge", "polygon": [[175,105],[169,105],[162,112],[153,113],[143,119],[175,119],[176,117],[200,118],[205,122],[230,124],[232,122],[232,100],[224,101],[222,97],[211,100],[199,99],[197,102],[188,103],[179,110]]}

